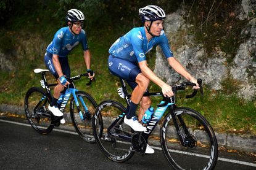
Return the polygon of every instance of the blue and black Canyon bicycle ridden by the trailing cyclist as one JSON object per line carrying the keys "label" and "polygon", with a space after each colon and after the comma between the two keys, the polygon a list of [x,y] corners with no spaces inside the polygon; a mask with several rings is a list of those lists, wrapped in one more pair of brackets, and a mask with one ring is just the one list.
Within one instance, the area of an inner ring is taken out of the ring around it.
{"label": "blue and black Canyon bicycle ridden by the trailing cyclist", "polygon": [[[48,134],[52,131],[54,126],[60,125],[62,117],[55,117],[50,110],[47,109],[52,100],[50,87],[55,87],[57,83],[48,84],[46,80],[46,72],[48,69],[35,69],[36,74],[40,74],[41,87],[31,87],[25,96],[25,114],[30,125],[40,134]],[[80,74],[74,77],[67,77],[68,85],[62,95],[58,99],[58,107],[60,111],[64,112],[65,107],[70,100],[70,117],[76,132],[86,142],[95,142],[93,131],[91,128],[91,120],[94,110],[97,107],[96,101],[93,97],[85,91],[78,91],[75,87],[75,80],[80,79],[88,74]],[[86,85],[91,85],[90,80]],[[70,98],[73,96],[72,98]]]}

